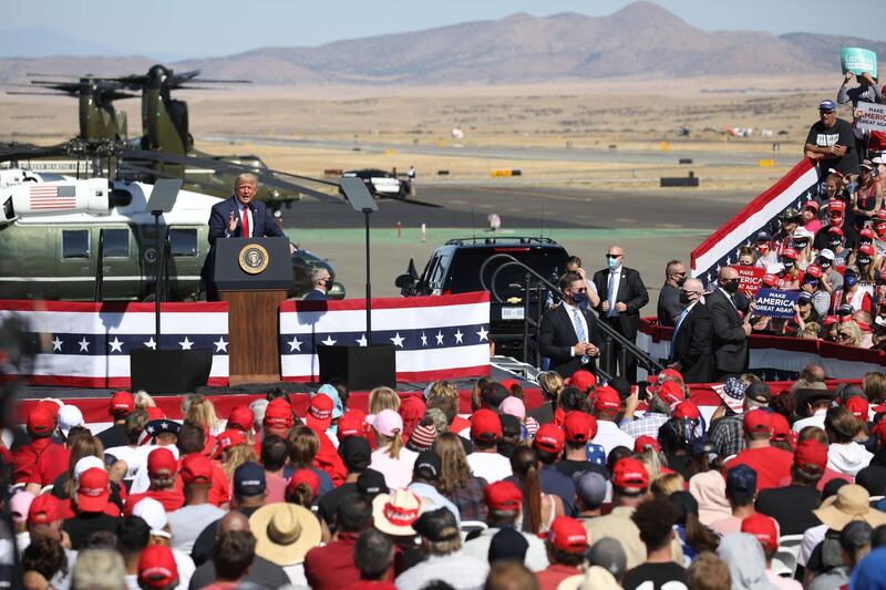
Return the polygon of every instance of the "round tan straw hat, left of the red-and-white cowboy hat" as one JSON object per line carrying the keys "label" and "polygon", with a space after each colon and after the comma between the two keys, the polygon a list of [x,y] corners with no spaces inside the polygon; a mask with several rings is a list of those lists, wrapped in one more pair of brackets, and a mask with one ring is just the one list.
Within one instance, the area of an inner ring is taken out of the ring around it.
{"label": "round tan straw hat, left of the red-and-white cowboy hat", "polygon": [[249,517],[249,528],[256,537],[256,555],[280,567],[301,563],[305,553],[320,545],[320,521],[295,504],[262,506]]}

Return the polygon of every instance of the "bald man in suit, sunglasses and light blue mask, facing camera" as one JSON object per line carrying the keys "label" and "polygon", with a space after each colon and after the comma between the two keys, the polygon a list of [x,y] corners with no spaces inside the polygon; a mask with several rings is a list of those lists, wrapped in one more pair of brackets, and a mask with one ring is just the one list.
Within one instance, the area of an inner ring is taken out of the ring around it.
{"label": "bald man in suit, sunglasses and light blue mask, facing camera", "polygon": [[[636,342],[637,327],[640,323],[640,308],[649,302],[649,293],[646,291],[640,273],[624,266],[625,250],[621,247],[610,246],[606,252],[606,260],[608,268],[594,273],[594,284],[600,296],[597,311],[602,321],[626,339]],[[610,286],[612,292],[610,292]],[[614,365],[619,348],[614,344],[610,351]],[[609,369],[615,369],[615,366]],[[626,354],[626,366],[621,366],[620,370],[620,374],[628,381],[637,382],[637,359],[632,354]]]}

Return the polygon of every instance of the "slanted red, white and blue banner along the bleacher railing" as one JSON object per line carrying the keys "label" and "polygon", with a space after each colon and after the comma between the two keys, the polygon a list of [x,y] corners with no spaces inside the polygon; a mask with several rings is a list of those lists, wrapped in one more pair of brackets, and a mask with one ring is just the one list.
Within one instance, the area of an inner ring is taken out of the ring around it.
{"label": "slanted red, white and blue banner along the bleacher railing", "polygon": [[779,216],[789,207],[800,208],[817,192],[818,169],[803,159],[692,250],[692,276],[712,284],[722,267],[738,262],[739,248],[754,244],[761,231],[775,234]]}

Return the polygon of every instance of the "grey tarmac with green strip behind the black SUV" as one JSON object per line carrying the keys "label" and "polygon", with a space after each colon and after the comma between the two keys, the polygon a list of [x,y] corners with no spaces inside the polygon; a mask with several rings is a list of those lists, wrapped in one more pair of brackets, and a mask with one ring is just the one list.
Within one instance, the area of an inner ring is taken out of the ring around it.
{"label": "grey tarmac with green strip behind the black SUV", "polygon": [[[416,192],[418,203],[383,199],[371,216],[373,297],[396,297],[394,279],[410,258],[421,272],[430,253],[447,239],[544,235],[581,257],[589,272],[604,268],[611,244],[622,246],[626,266],[640,271],[649,290],[647,314],[655,313],[666,262],[676,258],[689,266],[692,249],[755,196],[693,188],[636,193],[546,188],[507,180],[497,187],[418,184]],[[487,229],[492,213],[502,219],[495,232]],[[361,214],[344,203],[305,200],[284,210],[284,228],[302,248],[329,259],[349,298],[363,297]]]}

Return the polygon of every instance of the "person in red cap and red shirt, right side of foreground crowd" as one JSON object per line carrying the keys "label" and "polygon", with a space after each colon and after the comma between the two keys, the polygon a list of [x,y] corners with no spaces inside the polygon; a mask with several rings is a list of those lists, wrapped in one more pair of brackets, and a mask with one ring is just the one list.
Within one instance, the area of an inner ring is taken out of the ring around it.
{"label": "person in red cap and red shirt, right side of foreground crowd", "polygon": [[756,473],[756,490],[779,487],[782,479],[791,476],[793,456],[771,444],[771,414],[765,410],[751,410],[744,414],[745,449],[727,463],[727,469],[748,465]]}

